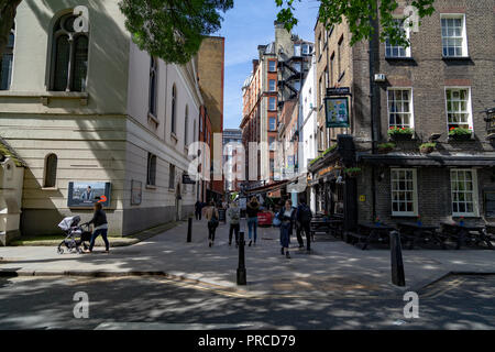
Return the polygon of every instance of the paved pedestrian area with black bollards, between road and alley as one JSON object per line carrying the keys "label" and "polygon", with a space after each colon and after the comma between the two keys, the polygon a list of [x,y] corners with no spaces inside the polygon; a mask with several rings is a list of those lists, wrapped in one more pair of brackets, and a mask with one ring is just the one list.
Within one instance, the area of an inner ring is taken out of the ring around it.
{"label": "paved pedestrian area with black bollards, between road and alley", "polygon": [[[245,223],[242,224],[245,229]],[[245,231],[248,232],[248,231]],[[449,273],[494,273],[495,251],[403,251],[406,287],[391,283],[391,254],[367,251],[327,235],[317,235],[311,254],[292,249],[280,255],[278,230],[258,228],[255,246],[245,248],[248,285],[238,286],[238,250],[228,245],[228,227],[217,230],[208,246],[206,221],[195,221],[193,242],[186,243],[187,222],[110,254],[57,254],[56,248],[0,248],[1,276],[141,276],[158,275],[240,297],[381,297],[420,290]],[[293,237],[292,245],[297,246]]]}

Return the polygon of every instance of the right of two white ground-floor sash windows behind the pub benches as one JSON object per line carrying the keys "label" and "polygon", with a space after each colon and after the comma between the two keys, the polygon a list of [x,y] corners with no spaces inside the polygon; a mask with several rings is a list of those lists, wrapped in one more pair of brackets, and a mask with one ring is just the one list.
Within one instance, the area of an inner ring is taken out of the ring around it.
{"label": "right of two white ground-floor sash windows behind the pub benches", "polygon": [[451,169],[452,216],[477,216],[477,182],[475,169]]}

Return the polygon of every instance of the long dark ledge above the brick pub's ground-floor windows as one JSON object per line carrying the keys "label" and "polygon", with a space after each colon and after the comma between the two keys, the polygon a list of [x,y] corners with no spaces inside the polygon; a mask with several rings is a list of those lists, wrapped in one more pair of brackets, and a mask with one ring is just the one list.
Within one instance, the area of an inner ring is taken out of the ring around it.
{"label": "long dark ledge above the brick pub's ground-floor windows", "polygon": [[364,164],[383,166],[493,167],[495,155],[377,155],[359,156]]}

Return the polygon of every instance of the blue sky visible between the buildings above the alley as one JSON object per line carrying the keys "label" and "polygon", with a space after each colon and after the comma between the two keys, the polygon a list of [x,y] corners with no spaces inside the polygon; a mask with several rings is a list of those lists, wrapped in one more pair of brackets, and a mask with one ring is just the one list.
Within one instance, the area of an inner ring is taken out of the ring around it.
{"label": "blue sky visible between the buildings above the alley", "polygon": [[[318,0],[295,1],[299,20],[294,34],[315,41]],[[274,41],[275,0],[234,0],[234,8],[223,14],[222,29],[215,35],[226,37],[226,81],[223,128],[238,129],[242,120],[242,84],[257,58],[257,45]]]}

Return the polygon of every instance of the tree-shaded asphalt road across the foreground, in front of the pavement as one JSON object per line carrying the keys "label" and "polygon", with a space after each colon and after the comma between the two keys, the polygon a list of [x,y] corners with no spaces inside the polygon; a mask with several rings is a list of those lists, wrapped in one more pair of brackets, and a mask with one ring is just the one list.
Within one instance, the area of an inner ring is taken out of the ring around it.
{"label": "tree-shaded asphalt road across the foreground, in front of the pavement", "polygon": [[[400,296],[258,297],[163,277],[0,278],[0,329],[494,329],[495,276],[449,276],[419,294],[419,318]],[[75,293],[89,318],[74,317]]]}

